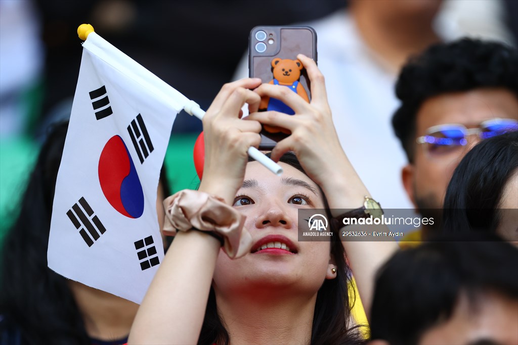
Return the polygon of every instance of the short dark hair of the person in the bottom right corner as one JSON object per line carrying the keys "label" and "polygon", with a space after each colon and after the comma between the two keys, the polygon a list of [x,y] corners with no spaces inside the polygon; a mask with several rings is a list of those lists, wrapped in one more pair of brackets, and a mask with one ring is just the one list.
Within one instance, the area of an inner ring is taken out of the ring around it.
{"label": "short dark hair of the person in the bottom right corner", "polygon": [[427,329],[451,318],[464,294],[470,304],[487,291],[518,299],[517,248],[493,234],[437,240],[400,250],[380,268],[371,339],[418,344]]}

